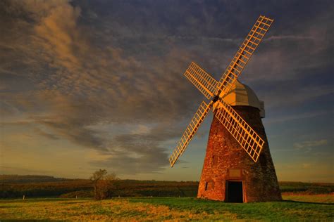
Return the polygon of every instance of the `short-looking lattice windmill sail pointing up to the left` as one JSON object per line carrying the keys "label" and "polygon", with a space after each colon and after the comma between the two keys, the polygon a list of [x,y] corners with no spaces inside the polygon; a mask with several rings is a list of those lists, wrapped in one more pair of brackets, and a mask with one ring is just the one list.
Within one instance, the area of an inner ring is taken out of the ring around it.
{"label": "short-looking lattice windmill sail pointing up to the left", "polygon": [[192,62],[188,69],[185,70],[185,77],[187,77],[207,99],[214,96],[218,81],[202,70],[196,63]]}

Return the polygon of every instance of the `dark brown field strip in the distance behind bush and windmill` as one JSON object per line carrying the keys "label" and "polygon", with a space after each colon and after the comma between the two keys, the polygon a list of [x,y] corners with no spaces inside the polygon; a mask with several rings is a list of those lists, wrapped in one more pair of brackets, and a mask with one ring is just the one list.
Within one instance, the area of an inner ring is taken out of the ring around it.
{"label": "dark brown field strip in the distance behind bush and windmill", "polygon": [[[330,194],[333,183],[279,182],[283,193]],[[120,180],[114,197],[195,197],[198,182]],[[52,176],[0,175],[0,198],[92,197],[92,183],[87,179]]]}

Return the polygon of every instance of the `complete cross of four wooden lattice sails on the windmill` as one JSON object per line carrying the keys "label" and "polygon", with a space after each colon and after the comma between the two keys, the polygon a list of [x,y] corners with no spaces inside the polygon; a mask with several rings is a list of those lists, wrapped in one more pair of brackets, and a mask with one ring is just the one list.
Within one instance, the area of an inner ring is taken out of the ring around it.
{"label": "complete cross of four wooden lattice sails on the windmill", "polygon": [[254,162],[259,159],[261,149],[264,146],[264,140],[247,124],[247,122],[245,122],[244,119],[242,119],[242,117],[240,117],[240,115],[237,114],[237,112],[235,112],[235,110],[233,110],[232,107],[230,107],[230,105],[228,105],[228,103],[223,101],[223,96],[230,91],[231,86],[237,80],[237,77],[240,76],[245,65],[247,65],[249,59],[257,46],[259,46],[272,23],[273,19],[266,18],[263,15],[259,16],[245,41],[242,42],[242,45],[235,54],[232,62],[223,73],[220,81],[216,81],[210,74],[206,73],[195,63],[191,63],[190,67],[185,71],[185,77],[187,77],[187,79],[189,79],[206,98],[210,99],[214,97],[214,100],[212,100],[209,105],[202,102],[199,106],[199,110],[195,113],[192,121],[189,126],[187,126],[185,133],[183,133],[181,140],[169,158],[171,166],[173,166],[178,157],[185,152],[187,145],[194,137],[194,133],[196,133],[199,125],[202,124],[211,107],[216,107],[214,103],[218,104],[216,117],[223,126],[228,129]]}

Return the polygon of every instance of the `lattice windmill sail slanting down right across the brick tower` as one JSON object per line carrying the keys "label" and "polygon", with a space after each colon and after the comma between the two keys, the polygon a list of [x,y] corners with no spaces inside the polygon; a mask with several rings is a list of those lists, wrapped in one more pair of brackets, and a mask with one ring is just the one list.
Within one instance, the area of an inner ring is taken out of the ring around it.
{"label": "lattice windmill sail slanting down right across the brick tower", "polygon": [[219,102],[221,106],[216,111],[216,118],[232,134],[235,140],[240,143],[254,162],[256,162],[264,146],[264,140],[228,103],[225,103],[223,100],[219,100]]}

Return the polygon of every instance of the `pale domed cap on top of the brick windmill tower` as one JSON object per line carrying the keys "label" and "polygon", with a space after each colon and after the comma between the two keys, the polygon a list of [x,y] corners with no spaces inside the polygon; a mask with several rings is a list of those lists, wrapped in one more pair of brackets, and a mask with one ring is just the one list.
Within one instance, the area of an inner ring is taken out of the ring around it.
{"label": "pale domed cap on top of the brick windmill tower", "polygon": [[260,110],[261,118],[264,118],[266,113],[264,110],[264,102],[257,98],[254,91],[240,81],[235,81],[230,91],[223,97],[223,100],[229,105],[249,105]]}

